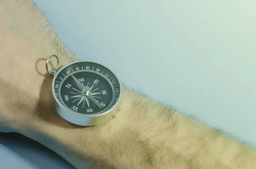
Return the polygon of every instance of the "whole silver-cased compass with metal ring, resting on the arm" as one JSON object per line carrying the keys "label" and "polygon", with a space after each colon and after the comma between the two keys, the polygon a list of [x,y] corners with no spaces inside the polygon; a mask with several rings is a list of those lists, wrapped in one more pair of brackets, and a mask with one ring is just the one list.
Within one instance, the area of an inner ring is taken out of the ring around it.
{"label": "whole silver-cased compass with metal ring, resting on the arm", "polygon": [[[58,59],[51,55],[47,65],[52,56]],[[47,66],[47,72],[54,76],[55,109],[65,120],[94,126],[113,117],[111,110],[119,103],[122,86],[110,69],[99,63],[77,61],[52,72]]]}

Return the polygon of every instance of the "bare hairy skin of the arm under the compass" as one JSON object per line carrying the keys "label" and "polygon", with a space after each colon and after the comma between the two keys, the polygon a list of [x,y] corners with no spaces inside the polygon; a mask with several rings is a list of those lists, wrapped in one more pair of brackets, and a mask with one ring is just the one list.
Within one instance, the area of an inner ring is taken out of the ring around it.
{"label": "bare hairy skin of the arm under the compass", "polygon": [[255,148],[127,89],[107,123],[62,119],[45,61],[57,54],[63,66],[77,58],[30,0],[0,1],[0,51],[0,131],[30,137],[78,169],[256,167]]}

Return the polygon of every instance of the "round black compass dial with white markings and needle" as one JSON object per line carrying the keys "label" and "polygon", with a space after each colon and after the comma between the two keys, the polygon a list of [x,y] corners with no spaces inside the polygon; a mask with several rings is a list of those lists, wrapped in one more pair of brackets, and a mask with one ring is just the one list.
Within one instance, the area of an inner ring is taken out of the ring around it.
{"label": "round black compass dial with white markings and needle", "polygon": [[120,83],[108,68],[93,62],[75,62],[58,71],[52,90],[70,112],[99,115],[119,101]]}

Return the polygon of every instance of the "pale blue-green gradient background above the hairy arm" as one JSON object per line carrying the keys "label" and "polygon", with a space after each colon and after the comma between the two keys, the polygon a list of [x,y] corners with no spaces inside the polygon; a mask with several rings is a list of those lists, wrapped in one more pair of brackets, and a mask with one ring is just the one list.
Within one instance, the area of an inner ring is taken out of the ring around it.
{"label": "pale blue-green gradient background above the hairy arm", "polygon": [[81,60],[256,145],[255,0],[35,0]]}

